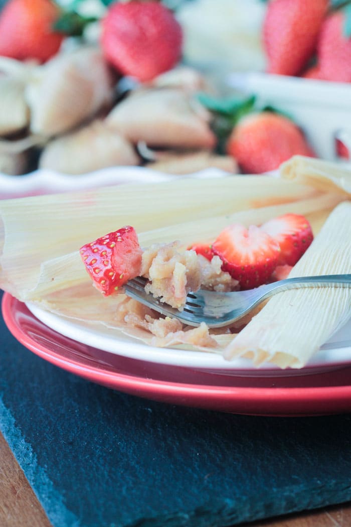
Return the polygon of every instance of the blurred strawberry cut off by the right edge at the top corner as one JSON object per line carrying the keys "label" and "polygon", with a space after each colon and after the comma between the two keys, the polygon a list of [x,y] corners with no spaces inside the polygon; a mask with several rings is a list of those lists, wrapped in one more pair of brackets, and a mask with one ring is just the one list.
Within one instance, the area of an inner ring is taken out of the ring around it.
{"label": "blurred strawberry cut off by the right edge at the top corner", "polygon": [[318,59],[320,74],[327,81],[351,82],[351,38],[344,36],[345,14],[328,16],[320,30]]}

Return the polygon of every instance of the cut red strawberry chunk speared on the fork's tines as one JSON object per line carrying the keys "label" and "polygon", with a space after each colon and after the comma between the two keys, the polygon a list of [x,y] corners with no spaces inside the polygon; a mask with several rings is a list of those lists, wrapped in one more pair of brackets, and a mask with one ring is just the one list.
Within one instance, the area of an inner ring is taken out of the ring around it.
{"label": "cut red strawberry chunk speared on the fork's tines", "polygon": [[106,296],[140,272],[142,249],[133,227],[122,227],[86,243],[80,252],[94,286]]}

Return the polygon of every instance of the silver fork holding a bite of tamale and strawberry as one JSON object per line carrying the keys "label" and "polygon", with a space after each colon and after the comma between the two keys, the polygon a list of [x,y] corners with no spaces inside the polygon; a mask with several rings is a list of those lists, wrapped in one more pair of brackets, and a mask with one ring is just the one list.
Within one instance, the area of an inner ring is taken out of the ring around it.
{"label": "silver fork holding a bite of tamale and strawberry", "polygon": [[196,293],[189,292],[183,311],[179,311],[150,293],[145,292],[147,279],[137,277],[129,280],[125,287],[128,296],[142,302],[162,315],[176,317],[189,326],[199,326],[205,322],[208,327],[227,326],[239,320],[258,306],[263,300],[276,293],[288,289],[302,287],[351,287],[351,275],[304,276],[300,278],[286,278],[272,284],[248,289],[220,293],[199,289]]}

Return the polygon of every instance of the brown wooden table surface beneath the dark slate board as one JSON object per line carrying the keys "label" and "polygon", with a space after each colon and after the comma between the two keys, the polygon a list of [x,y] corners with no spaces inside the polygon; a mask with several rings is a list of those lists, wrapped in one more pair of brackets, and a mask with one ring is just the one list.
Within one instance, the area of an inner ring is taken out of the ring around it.
{"label": "brown wooden table surface beneath the dark slate board", "polygon": [[[52,527],[31,485],[0,434],[1,527]],[[350,527],[351,504],[246,523],[246,527]],[[104,527],[99,525],[99,527]]]}

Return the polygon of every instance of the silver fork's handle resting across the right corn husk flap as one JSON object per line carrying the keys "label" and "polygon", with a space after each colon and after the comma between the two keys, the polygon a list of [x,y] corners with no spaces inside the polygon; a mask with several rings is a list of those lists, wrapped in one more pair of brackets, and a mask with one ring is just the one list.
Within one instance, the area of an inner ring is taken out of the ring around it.
{"label": "silver fork's handle resting across the right corn husk flap", "polygon": [[260,301],[276,293],[287,291],[288,289],[300,289],[303,287],[351,287],[351,275],[320,275],[286,278],[285,280],[260,286],[259,290],[262,292]]}

